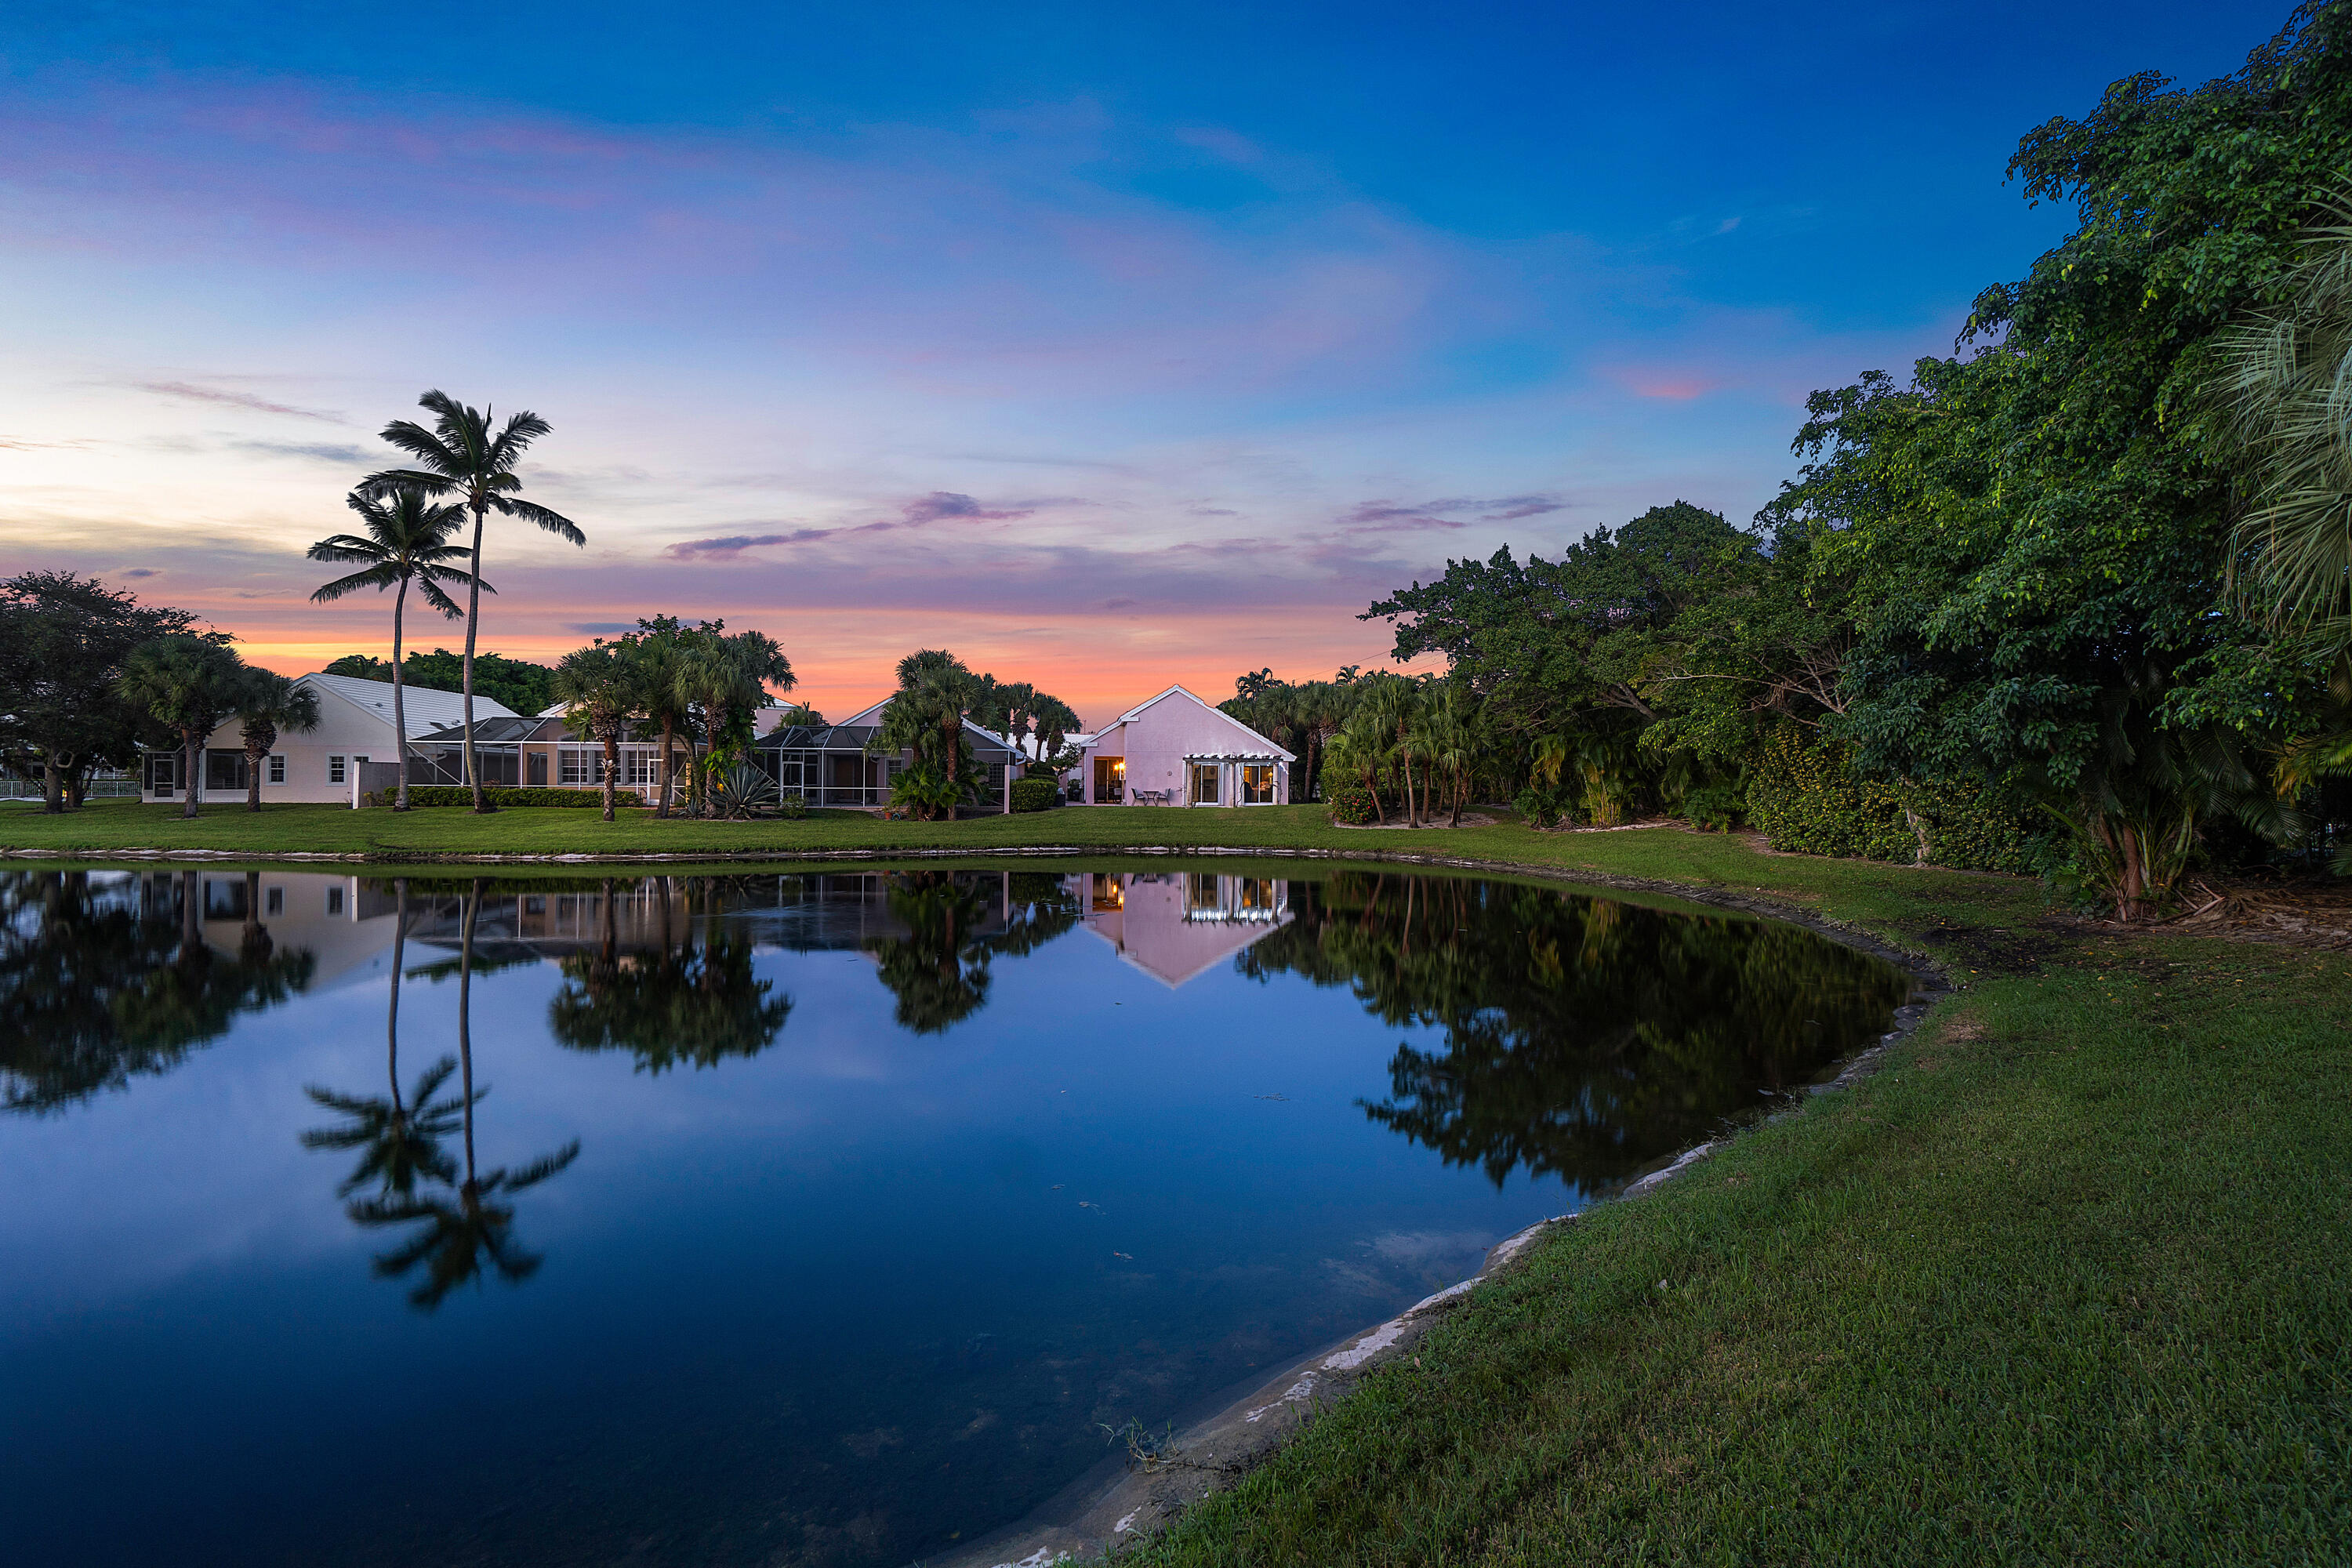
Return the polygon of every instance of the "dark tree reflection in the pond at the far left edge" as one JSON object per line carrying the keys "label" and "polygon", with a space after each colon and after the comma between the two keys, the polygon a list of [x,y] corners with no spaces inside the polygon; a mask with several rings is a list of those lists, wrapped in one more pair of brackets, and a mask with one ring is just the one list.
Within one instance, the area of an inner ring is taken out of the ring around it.
{"label": "dark tree reflection in the pond at the far left edge", "polygon": [[169,1072],[310,983],[310,952],[278,952],[259,922],[259,875],[240,936],[235,957],[205,945],[198,872],[0,875],[0,1110],[40,1114]]}

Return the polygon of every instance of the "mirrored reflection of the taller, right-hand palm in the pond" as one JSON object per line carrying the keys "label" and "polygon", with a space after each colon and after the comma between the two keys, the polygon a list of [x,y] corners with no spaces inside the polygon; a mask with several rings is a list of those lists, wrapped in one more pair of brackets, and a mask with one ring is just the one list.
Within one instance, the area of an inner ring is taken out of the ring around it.
{"label": "mirrored reflection of the taller, right-hand palm in the pond", "polygon": [[459,1048],[459,1128],[466,1143],[463,1180],[454,1187],[440,1178],[440,1192],[383,1194],[362,1199],[348,1208],[360,1225],[419,1225],[419,1229],[388,1253],[376,1255],[381,1279],[402,1279],[416,1265],[426,1265],[426,1276],[409,1291],[409,1302],[430,1312],[459,1286],[480,1281],[485,1265],[508,1284],[522,1284],[539,1272],[539,1253],[524,1251],[515,1241],[515,1206],[506,1199],[536,1187],[574,1159],[579,1138],[553,1154],[543,1154],[527,1166],[508,1171],[482,1171],[473,1150],[473,1107],[487,1088],[473,1086],[473,933],[482,907],[482,884],[475,882],[466,896],[466,914],[459,933],[456,969],[456,1048]]}

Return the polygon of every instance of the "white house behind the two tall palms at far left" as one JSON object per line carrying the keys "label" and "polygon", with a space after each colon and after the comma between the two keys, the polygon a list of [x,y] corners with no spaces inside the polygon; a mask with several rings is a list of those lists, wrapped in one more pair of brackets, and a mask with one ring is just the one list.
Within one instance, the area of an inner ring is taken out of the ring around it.
{"label": "white house behind the two tall palms at far left", "polygon": [[[261,762],[263,802],[348,802],[362,762],[395,762],[393,684],[353,675],[303,675],[296,686],[318,693],[318,729],[280,731]],[[456,691],[402,686],[409,745],[426,731],[466,722],[466,698]],[[513,719],[513,708],[475,693],[473,717]],[[148,752],[141,799],[183,799],[179,776],[183,752]],[[205,797],[245,797],[245,733],[230,719],[205,738]]]}

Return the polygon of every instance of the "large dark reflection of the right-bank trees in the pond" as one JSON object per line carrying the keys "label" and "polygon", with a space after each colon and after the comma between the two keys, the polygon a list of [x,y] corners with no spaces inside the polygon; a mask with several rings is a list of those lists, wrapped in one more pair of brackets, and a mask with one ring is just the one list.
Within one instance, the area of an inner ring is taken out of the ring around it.
{"label": "large dark reflection of the right-bank trees in the pond", "polygon": [[1910,980],[1795,926],[1496,882],[1294,884],[1244,973],[1348,985],[1399,1046],[1364,1112],[1446,1164],[1623,1180],[1889,1027]]}

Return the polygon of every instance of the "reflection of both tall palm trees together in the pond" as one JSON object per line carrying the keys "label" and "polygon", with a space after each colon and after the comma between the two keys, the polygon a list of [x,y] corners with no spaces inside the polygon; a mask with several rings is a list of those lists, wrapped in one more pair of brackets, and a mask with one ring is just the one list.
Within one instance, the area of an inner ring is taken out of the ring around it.
{"label": "reflection of both tall palm trees together in the pond", "polygon": [[[407,926],[407,889],[400,891],[400,931],[393,938],[393,1004],[388,1009],[388,1051],[390,1051],[390,1105],[400,1105],[400,943]],[[393,1227],[412,1225],[414,1229],[388,1253],[379,1253],[374,1269],[381,1279],[405,1279],[423,1265],[426,1276],[409,1291],[409,1302],[430,1312],[449,1298],[463,1284],[480,1281],[485,1269],[499,1274],[508,1284],[522,1284],[539,1272],[539,1253],[524,1251],[515,1239],[515,1204],[513,1197],[539,1182],[548,1180],[574,1159],[579,1159],[579,1138],[567,1143],[553,1154],[529,1161],[527,1166],[494,1171],[482,1171],[475,1161],[473,1124],[475,1107],[489,1086],[475,1088],[473,1081],[473,940],[475,919],[482,907],[482,884],[475,882],[466,893],[466,905],[459,926],[459,969],[456,969],[456,1072],[459,1095],[456,1100],[435,1100],[440,1086],[447,1081],[449,1063],[435,1063],[419,1077],[416,1088],[407,1100],[407,1121],[395,1133],[388,1119],[372,1112],[374,1100],[350,1098],[353,1107],[369,1107],[365,1114],[353,1117],[350,1126],[322,1128],[320,1133],[306,1133],[303,1143],[310,1147],[362,1147],[360,1171],[343,1182],[341,1192],[355,1192],[369,1180],[379,1182],[374,1197],[353,1199],[346,1213],[355,1225],[362,1227]],[[315,1100],[334,1110],[346,1110],[346,1100],[329,1095],[327,1091],[310,1091]],[[350,1114],[346,1110],[346,1114]],[[454,1119],[454,1126],[452,1126]],[[381,1133],[381,1143],[372,1143],[367,1133]],[[440,1150],[440,1138],[452,1131],[463,1138],[463,1161],[454,1161]],[[402,1143],[393,1143],[393,1140]]]}

